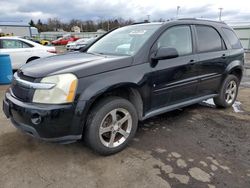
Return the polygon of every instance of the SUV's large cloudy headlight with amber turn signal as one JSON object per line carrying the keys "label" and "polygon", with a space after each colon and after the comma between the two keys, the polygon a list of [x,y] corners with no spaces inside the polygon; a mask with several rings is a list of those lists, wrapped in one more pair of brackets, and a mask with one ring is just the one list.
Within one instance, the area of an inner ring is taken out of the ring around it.
{"label": "SUV's large cloudy headlight with amber turn signal", "polygon": [[52,89],[36,89],[33,102],[63,104],[73,102],[77,88],[77,77],[73,74],[61,74],[45,77],[41,83],[53,83]]}

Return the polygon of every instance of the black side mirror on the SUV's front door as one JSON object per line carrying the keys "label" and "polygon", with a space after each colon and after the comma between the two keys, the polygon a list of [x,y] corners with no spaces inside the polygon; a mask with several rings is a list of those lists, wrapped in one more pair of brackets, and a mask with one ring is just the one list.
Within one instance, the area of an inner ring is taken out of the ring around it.
{"label": "black side mirror on the SUV's front door", "polygon": [[160,47],[155,56],[152,57],[153,60],[163,60],[163,59],[172,59],[178,57],[179,54],[175,48],[166,48]]}

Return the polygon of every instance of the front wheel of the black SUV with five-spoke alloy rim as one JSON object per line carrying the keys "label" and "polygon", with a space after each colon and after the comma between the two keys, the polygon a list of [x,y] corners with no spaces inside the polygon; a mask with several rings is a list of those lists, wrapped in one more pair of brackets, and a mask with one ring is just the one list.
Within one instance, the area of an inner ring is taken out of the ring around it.
{"label": "front wheel of the black SUV with five-spoke alloy rim", "polygon": [[126,99],[108,97],[90,112],[84,140],[101,155],[123,150],[134,137],[138,124],[135,107]]}

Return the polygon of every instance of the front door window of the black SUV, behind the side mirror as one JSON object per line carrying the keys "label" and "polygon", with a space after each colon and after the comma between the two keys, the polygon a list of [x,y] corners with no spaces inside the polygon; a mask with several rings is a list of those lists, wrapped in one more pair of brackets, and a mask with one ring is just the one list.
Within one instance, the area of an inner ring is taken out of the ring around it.
{"label": "front door window of the black SUV, behind the side mirror", "polygon": [[175,26],[165,31],[157,41],[158,48],[175,48],[179,55],[192,53],[192,37],[189,26]]}

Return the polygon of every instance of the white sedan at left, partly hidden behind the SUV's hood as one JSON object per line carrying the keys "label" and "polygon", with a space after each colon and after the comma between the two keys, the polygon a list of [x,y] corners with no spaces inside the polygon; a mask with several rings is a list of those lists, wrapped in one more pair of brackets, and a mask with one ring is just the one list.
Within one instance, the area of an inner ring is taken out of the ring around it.
{"label": "white sedan at left, partly hidden behind the SUV's hood", "polygon": [[43,46],[20,37],[0,37],[0,54],[9,54],[13,70],[42,57],[56,54],[53,46]]}

